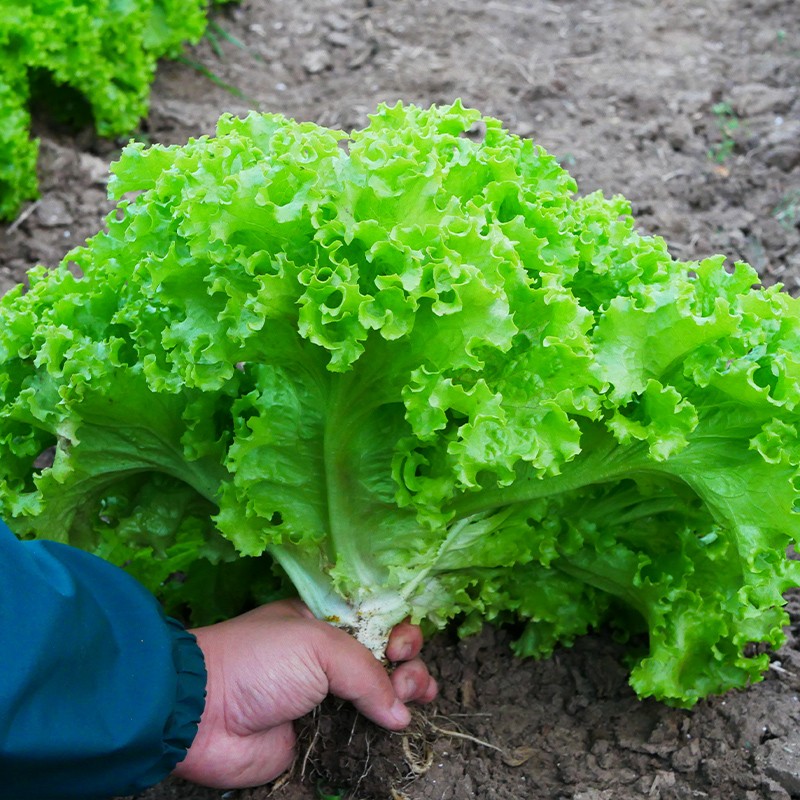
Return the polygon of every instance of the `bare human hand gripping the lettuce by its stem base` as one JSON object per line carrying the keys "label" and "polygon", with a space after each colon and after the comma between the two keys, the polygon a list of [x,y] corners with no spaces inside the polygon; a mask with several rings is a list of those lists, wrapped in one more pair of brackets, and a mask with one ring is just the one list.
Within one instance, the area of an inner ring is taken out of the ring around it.
{"label": "bare human hand gripping the lettuce by its stem base", "polygon": [[321,622],[298,600],[261,606],[192,631],[208,672],[206,706],[174,775],[236,789],[266,783],[294,759],[293,720],[330,693],[390,730],[410,721],[405,703],[427,703],[436,681],[418,658],[422,633],[401,623],[386,648],[401,663],[389,675],[352,636]]}

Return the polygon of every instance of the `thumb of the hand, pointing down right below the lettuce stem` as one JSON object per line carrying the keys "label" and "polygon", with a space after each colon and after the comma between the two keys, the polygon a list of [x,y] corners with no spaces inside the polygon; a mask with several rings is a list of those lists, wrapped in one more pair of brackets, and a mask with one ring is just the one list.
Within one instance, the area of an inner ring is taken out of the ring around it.
{"label": "thumb of the hand, pointing down right below the lettuce stem", "polygon": [[389,730],[400,730],[411,713],[397,697],[386,669],[364,645],[344,631],[318,628],[317,660],[331,694],[349,700],[365,717]]}

